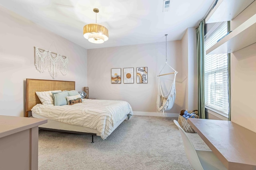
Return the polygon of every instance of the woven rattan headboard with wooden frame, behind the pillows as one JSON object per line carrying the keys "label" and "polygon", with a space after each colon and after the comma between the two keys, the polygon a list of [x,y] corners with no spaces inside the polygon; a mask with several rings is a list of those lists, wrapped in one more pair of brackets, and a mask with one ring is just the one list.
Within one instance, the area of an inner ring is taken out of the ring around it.
{"label": "woven rattan headboard with wooden frame, behind the pillows", "polygon": [[60,80],[40,80],[40,79],[26,79],[26,113],[31,111],[32,107],[40,104],[36,92],[44,92],[51,90],[75,90],[75,82],[73,81],[60,81]]}

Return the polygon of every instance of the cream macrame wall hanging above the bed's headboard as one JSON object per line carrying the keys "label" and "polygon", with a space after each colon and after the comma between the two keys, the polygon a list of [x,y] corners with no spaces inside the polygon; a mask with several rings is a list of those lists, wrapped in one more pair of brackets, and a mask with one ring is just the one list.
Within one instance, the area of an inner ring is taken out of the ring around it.
{"label": "cream macrame wall hanging above the bed's headboard", "polygon": [[58,76],[59,71],[64,76],[66,76],[68,72],[68,57],[58,53],[35,47],[35,60],[36,70],[42,73],[44,70],[48,69],[53,79]]}

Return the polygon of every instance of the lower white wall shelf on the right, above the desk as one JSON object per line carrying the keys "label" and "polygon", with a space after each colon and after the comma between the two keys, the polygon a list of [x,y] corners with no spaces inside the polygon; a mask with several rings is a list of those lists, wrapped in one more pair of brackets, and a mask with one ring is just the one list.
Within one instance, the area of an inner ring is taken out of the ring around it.
{"label": "lower white wall shelf on the right, above the desk", "polygon": [[206,55],[233,53],[254,43],[256,43],[256,14],[206,50]]}

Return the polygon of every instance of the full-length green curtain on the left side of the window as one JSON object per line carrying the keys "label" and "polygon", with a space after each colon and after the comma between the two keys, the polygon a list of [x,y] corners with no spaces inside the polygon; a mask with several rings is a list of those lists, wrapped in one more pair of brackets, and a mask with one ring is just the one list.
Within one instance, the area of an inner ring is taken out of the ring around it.
{"label": "full-length green curtain on the left side of the window", "polygon": [[198,115],[205,119],[204,104],[204,20],[196,28],[197,39],[197,77],[198,77]]}

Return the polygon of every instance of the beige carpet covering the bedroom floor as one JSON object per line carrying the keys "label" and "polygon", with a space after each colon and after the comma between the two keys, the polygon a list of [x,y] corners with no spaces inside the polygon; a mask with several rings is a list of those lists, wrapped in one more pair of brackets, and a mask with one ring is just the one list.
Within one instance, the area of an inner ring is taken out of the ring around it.
{"label": "beige carpet covering the bedroom floor", "polygon": [[[196,133],[195,148],[209,149]],[[39,170],[192,170],[178,128],[169,117],[133,116],[105,140],[39,131]]]}

